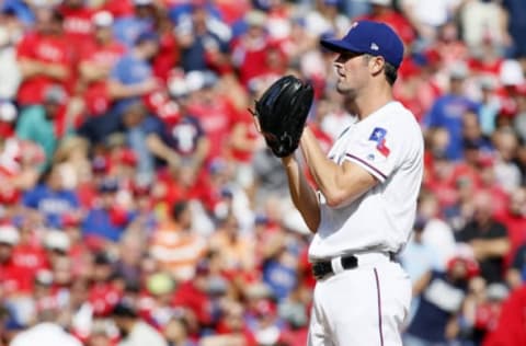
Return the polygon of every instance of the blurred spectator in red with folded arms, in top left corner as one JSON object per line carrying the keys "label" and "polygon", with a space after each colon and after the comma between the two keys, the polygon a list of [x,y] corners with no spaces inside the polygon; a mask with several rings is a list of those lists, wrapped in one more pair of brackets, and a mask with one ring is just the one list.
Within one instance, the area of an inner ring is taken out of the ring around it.
{"label": "blurred spectator in red with folded arms, in top left corner", "polygon": [[35,32],[27,32],[16,49],[22,83],[16,100],[23,107],[41,104],[49,85],[72,86],[71,45],[62,35],[64,16],[45,4],[35,8]]}

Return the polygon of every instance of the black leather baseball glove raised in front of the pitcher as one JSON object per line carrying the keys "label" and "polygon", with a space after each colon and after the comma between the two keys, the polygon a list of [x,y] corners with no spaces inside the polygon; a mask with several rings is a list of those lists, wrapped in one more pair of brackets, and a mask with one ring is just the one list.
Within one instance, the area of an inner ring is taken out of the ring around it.
{"label": "black leather baseball glove raised in front of the pitcher", "polygon": [[287,157],[298,148],[312,99],[313,90],[309,83],[285,76],[255,101],[255,109],[249,109],[276,157]]}

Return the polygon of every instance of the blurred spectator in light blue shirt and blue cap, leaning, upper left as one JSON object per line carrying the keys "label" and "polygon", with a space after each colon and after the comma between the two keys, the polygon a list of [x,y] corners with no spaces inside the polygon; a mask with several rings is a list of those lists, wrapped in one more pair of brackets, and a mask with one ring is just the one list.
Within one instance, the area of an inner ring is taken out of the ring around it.
{"label": "blurred spectator in light blue shirt and blue cap, leaning, upper left", "polygon": [[115,116],[119,117],[129,104],[160,88],[150,65],[158,51],[159,36],[152,31],[145,31],[113,67],[107,86],[110,97],[118,100],[111,111]]}

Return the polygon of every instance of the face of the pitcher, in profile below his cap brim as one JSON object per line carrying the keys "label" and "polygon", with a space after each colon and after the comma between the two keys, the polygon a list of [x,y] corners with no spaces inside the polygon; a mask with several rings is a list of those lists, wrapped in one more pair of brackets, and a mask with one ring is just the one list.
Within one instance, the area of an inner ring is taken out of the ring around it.
{"label": "face of the pitcher, in profile below his cap brim", "polygon": [[345,51],[334,60],[338,76],[336,90],[341,94],[356,95],[366,85],[368,60],[363,54]]}

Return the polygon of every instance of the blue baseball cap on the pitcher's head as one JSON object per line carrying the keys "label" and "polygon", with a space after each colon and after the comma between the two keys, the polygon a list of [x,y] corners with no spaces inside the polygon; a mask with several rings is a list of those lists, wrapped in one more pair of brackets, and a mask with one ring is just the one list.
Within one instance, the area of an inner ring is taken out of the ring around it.
{"label": "blue baseball cap on the pitcher's head", "polygon": [[403,43],[387,24],[373,21],[354,22],[342,39],[322,38],[323,48],[332,51],[353,51],[381,56],[396,68],[403,58]]}

